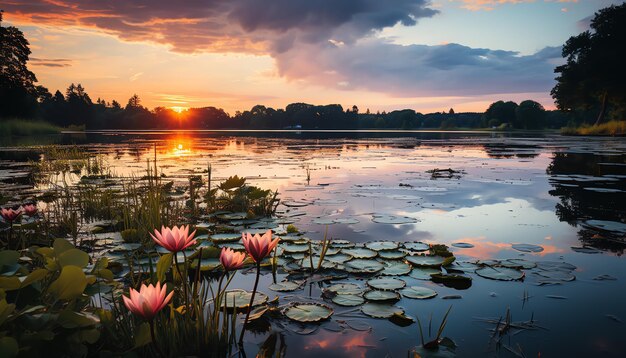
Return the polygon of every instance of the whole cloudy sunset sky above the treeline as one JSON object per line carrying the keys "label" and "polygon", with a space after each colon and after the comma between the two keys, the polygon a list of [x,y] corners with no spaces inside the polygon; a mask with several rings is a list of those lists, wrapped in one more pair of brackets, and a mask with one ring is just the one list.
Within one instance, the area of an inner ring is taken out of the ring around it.
{"label": "whole cloudy sunset sky above the treeline", "polygon": [[149,108],[554,103],[561,46],[623,0],[4,0],[51,92]]}

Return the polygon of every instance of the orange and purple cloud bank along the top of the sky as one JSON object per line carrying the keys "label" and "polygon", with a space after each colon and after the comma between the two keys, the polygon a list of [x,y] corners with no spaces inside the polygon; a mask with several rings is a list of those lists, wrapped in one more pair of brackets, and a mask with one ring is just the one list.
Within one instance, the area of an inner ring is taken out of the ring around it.
{"label": "orange and purple cloud bank along the top of the sky", "polygon": [[12,21],[96,28],[178,52],[280,52],[298,42],[351,43],[437,13],[428,0],[9,0]]}

